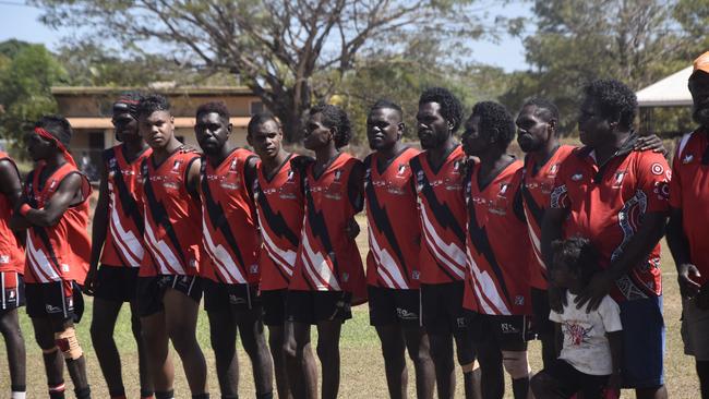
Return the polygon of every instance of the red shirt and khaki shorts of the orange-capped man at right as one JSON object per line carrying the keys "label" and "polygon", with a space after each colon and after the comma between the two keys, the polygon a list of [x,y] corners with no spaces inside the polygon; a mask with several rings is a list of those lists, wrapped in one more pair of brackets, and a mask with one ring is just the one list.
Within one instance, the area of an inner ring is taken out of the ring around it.
{"label": "red shirt and khaki shorts of the orange-capped man at right", "polygon": [[[698,283],[701,295],[709,286],[709,137],[701,129],[685,134],[680,141],[672,165],[670,206],[682,209],[684,237],[689,244],[689,262],[700,273]],[[683,299],[682,338],[685,353],[697,361],[709,361],[709,311],[697,306],[696,301]]]}

